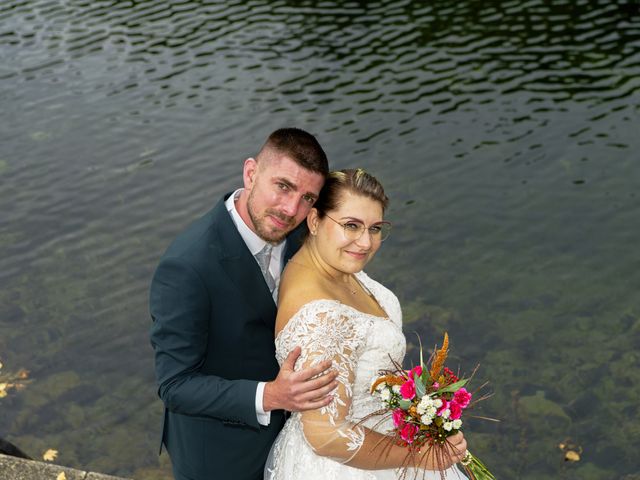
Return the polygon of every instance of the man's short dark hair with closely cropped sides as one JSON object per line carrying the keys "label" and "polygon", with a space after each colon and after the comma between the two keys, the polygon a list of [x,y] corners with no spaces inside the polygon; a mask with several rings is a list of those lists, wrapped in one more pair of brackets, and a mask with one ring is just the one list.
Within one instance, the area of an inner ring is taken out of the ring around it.
{"label": "man's short dark hair with closely cropped sides", "polygon": [[287,155],[298,165],[324,178],[329,175],[327,155],[316,137],[300,128],[279,128],[274,131],[258,152],[257,157],[266,150],[275,150]]}

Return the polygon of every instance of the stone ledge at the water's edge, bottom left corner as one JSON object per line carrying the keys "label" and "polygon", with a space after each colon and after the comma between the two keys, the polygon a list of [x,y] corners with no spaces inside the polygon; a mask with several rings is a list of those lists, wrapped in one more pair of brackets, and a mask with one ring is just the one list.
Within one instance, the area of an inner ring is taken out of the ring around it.
{"label": "stone ledge at the water's edge, bottom left corner", "polygon": [[0,480],[56,480],[62,472],[66,480],[127,480],[0,454]]}

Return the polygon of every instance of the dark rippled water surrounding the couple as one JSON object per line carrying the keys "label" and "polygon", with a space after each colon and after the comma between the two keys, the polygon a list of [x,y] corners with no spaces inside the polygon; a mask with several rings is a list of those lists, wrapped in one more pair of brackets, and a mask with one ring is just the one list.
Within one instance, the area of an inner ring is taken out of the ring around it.
{"label": "dark rippled water surrounding the couple", "polygon": [[631,1],[5,0],[0,434],[169,478],[150,276],[295,125],[384,182],[368,270],[481,364],[498,478],[640,478],[639,79]]}

